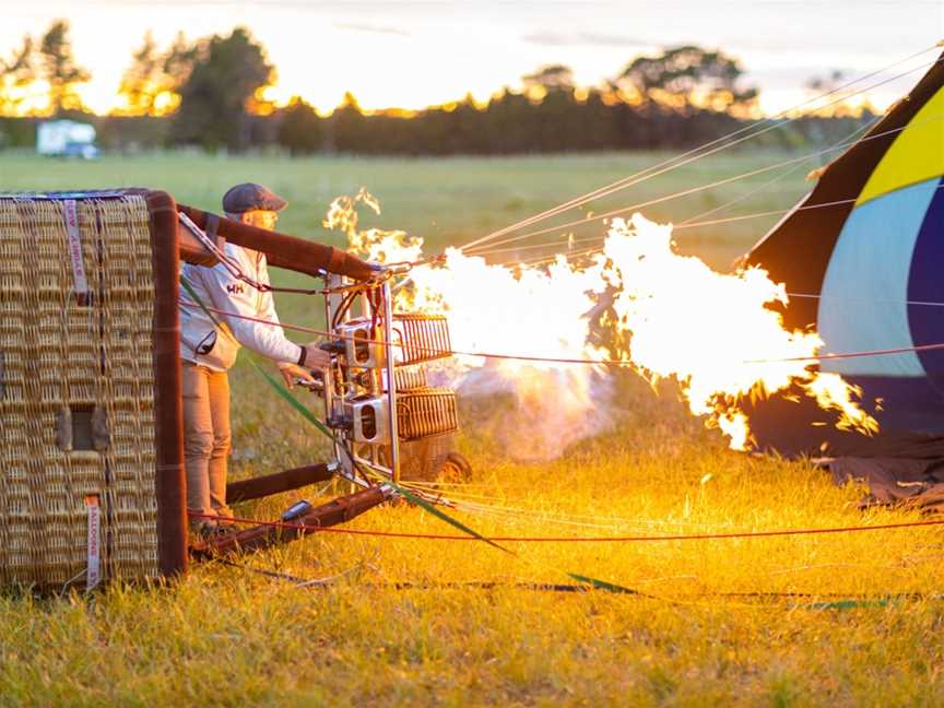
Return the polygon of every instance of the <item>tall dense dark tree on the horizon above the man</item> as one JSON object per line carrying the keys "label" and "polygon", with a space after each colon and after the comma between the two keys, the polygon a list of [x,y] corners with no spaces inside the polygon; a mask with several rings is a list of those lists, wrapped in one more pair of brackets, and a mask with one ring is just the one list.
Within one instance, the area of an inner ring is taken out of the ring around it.
{"label": "tall dense dark tree on the horizon above the man", "polygon": [[204,148],[248,146],[248,104],[274,76],[266,50],[245,27],[227,37],[214,35],[198,44],[192,68],[180,86],[180,108],[172,137]]}

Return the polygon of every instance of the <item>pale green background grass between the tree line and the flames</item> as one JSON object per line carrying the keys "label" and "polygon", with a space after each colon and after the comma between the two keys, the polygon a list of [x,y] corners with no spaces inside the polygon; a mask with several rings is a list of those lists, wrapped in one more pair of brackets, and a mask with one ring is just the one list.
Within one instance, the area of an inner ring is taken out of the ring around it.
{"label": "pale green background grass between the tree line and the flames", "polygon": [[[316,157],[203,157],[178,154],[105,157],[101,161],[63,162],[32,155],[0,155],[0,189],[63,189],[146,186],[167,189],[178,201],[201,209],[220,210],[220,199],[239,181],[259,181],[290,201],[280,228],[326,240],[321,219],[331,200],[366,187],[379,200],[380,219],[368,220],[386,228],[403,228],[423,236],[434,249],[465,243],[543,211],[578,194],[661,163],[671,153],[603,153],[523,158],[356,158]],[[574,210],[552,226],[641,203],[681,190],[775,165],[800,156],[776,151],[724,151],[676,170],[646,180],[583,210]],[[809,187],[805,174],[822,163],[813,157],[768,190],[721,216],[788,209]],[[668,201],[644,211],[657,221],[681,222],[751,191],[789,170],[771,170],[715,190]],[[682,235],[683,247],[697,249],[724,266],[745,246],[764,234],[774,219],[705,228]],[[602,235],[599,224],[576,232],[578,237]],[[555,234],[544,237],[555,240]],[[533,251],[528,251],[533,253]],[[514,256],[514,255],[512,255]]]}

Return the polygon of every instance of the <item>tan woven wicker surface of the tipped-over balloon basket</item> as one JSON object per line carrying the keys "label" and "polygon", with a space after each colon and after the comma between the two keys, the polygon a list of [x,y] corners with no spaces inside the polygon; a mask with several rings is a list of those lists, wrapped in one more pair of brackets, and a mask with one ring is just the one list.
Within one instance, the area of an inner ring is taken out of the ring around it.
{"label": "tan woven wicker surface of the tipped-over balloon basket", "polygon": [[78,212],[85,304],[63,202],[0,199],[2,583],[84,582],[86,495],[102,509],[102,577],[157,575],[148,209],[126,196]]}

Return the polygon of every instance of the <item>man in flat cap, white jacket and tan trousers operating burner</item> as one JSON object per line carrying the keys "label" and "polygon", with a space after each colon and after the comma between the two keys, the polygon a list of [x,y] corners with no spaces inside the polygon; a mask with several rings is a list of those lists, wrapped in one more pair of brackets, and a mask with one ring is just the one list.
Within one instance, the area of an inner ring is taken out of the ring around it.
{"label": "man in flat cap, white jacket and tan trousers operating burner", "polygon": [[[274,192],[255,184],[237,185],[223,197],[227,219],[270,231],[286,204]],[[225,253],[248,280],[269,284],[263,253],[232,244],[226,244]],[[235,363],[239,347],[247,346],[273,359],[290,387],[295,379],[312,381],[310,369],[328,366],[330,355],[316,342],[303,346],[287,340],[278,327],[272,293],[260,292],[223,263],[213,268],[188,263],[181,276],[208,307],[276,324],[219,312],[211,318],[199,306],[180,308],[187,508],[199,515],[191,528],[205,535],[220,531],[221,523],[233,516],[226,506],[226,458],[231,441],[226,371]],[[190,299],[186,290],[184,296]],[[219,519],[202,518],[208,516]]]}

